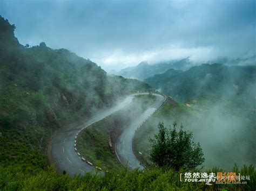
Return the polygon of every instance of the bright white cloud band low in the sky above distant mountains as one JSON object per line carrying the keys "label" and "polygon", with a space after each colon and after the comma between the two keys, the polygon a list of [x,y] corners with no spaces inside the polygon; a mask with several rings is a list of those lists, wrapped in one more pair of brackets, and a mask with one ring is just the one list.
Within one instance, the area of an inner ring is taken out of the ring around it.
{"label": "bright white cloud band low in the sky above distant mountains", "polygon": [[160,61],[179,60],[190,57],[190,61],[194,63],[203,63],[213,60],[216,54],[212,47],[182,48],[173,46],[135,53],[127,53],[122,49],[116,49],[114,51],[111,50],[111,52],[102,53],[100,58],[97,58],[97,55],[92,55],[91,59],[96,63],[100,63],[106,70],[112,68],[120,70],[124,67],[137,65],[145,60],[153,64]]}

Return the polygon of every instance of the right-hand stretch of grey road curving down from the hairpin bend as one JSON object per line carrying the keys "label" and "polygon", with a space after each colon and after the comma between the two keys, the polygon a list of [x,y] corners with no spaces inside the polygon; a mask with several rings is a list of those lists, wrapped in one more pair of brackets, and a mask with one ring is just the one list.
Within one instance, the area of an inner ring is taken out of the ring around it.
{"label": "right-hand stretch of grey road curving down from the hairpin bend", "polygon": [[127,165],[129,168],[140,168],[144,167],[140,165],[139,160],[135,157],[132,151],[132,139],[136,133],[136,130],[146,121],[149,116],[159,107],[161,103],[165,100],[165,96],[159,94],[153,94],[157,96],[157,100],[151,105],[151,108],[143,112],[142,115],[138,116],[120,135],[116,144],[116,153],[120,162],[124,166]]}

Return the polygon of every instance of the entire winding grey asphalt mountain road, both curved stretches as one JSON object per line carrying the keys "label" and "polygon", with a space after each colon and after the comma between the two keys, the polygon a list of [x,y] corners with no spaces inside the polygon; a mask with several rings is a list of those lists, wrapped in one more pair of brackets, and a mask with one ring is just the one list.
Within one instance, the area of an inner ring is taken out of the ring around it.
{"label": "entire winding grey asphalt mountain road, both curved stretches", "polygon": [[[145,94],[147,93],[131,94],[127,96],[125,100],[119,102],[116,106],[99,112],[97,115],[87,119],[82,124],[71,126],[68,129],[57,132],[56,135],[52,137],[49,146],[49,157],[50,160],[54,163],[55,167],[58,169],[58,171],[60,173],[65,171],[71,176],[75,174],[84,174],[85,172],[95,172],[95,168],[93,168],[89,164],[86,164],[86,162],[84,162],[75,151],[74,141],[77,133],[79,133],[80,130],[86,128],[90,124],[98,122],[103,118],[113,114],[114,112],[124,108],[127,104],[132,102],[134,96]],[[156,108],[161,104],[161,102],[164,101],[165,98],[163,95],[160,94],[153,95],[157,96],[156,102],[154,102],[154,104],[152,105],[153,108],[147,109],[141,116],[139,116],[138,120],[134,121],[118,139],[117,154],[120,160],[124,162],[124,164],[126,163],[126,161],[129,161],[128,165],[132,168],[143,168],[142,166],[139,166],[139,161],[136,159],[131,149],[134,133],[139,125],[142,124],[143,121],[154,112],[154,110],[156,110]]]}

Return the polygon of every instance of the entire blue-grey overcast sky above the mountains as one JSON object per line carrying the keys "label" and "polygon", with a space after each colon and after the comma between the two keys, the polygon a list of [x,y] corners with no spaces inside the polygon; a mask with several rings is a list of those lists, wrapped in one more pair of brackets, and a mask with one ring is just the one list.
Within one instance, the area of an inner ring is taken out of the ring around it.
{"label": "entire blue-grey overcast sky above the mountains", "polygon": [[0,0],[0,15],[16,25],[23,45],[44,41],[119,70],[141,61],[255,55],[255,2]]}

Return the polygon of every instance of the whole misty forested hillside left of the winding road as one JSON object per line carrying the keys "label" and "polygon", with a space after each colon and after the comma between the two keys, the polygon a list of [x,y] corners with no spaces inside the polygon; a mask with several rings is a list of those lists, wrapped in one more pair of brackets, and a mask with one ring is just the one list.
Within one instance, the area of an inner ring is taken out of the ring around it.
{"label": "whole misty forested hillside left of the winding road", "polygon": [[22,171],[46,168],[45,150],[53,132],[110,107],[131,91],[153,90],[137,80],[109,76],[66,49],[45,43],[23,46],[14,30],[0,17],[0,165]]}

